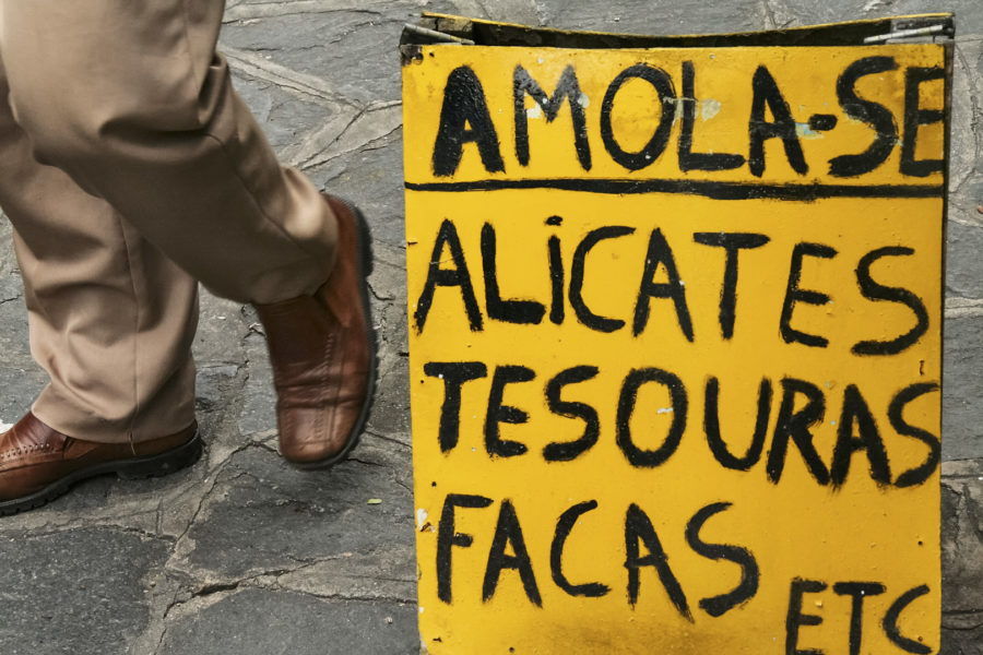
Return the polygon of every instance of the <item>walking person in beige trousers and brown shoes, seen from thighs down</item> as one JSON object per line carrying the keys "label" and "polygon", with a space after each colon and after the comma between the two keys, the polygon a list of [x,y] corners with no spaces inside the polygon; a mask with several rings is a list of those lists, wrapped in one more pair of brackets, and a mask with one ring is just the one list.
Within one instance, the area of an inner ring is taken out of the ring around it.
{"label": "walking person in beige trousers and brown shoes, seen from thighs down", "polygon": [[223,0],[0,0],[0,207],[50,382],[0,515],[194,463],[198,283],[264,327],[283,456],[330,466],[375,386],[357,209],[285,168],[215,51]]}

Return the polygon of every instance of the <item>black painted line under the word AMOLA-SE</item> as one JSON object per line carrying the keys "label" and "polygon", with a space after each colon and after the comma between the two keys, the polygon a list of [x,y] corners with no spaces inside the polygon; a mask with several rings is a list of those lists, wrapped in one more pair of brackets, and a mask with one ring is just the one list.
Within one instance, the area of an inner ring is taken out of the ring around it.
{"label": "black painted line under the word AMOLA-SE", "polygon": [[587,193],[629,195],[641,193],[682,193],[713,200],[800,200],[825,198],[941,198],[941,184],[766,184],[712,180],[626,180],[540,178],[522,180],[474,180],[461,182],[406,182],[410,191],[500,191],[508,189],[558,189]]}

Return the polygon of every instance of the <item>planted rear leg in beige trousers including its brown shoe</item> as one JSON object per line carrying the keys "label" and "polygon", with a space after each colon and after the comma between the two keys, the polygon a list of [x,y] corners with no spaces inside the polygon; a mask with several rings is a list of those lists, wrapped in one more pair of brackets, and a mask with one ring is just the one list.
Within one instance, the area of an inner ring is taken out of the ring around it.
{"label": "planted rear leg in beige trousers including its brown shoe", "polygon": [[0,515],[43,504],[107,461],[147,475],[200,452],[198,284],[105,201],[38,164],[7,96],[0,62],[0,206],[14,226],[32,354],[50,382],[0,434]]}

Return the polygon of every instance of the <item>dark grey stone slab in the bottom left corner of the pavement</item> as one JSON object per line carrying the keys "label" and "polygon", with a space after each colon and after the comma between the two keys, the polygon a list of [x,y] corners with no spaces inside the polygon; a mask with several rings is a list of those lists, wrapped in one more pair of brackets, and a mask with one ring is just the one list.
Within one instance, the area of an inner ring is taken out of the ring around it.
{"label": "dark grey stone slab in the bottom left corner of the pavement", "polygon": [[128,653],[149,621],[147,575],[167,551],[166,541],[112,528],[4,535],[0,653]]}

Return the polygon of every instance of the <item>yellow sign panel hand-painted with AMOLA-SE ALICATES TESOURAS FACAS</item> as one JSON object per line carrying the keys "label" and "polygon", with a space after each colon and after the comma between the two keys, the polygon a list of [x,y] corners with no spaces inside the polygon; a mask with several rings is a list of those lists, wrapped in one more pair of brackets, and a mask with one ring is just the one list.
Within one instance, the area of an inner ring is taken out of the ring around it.
{"label": "yellow sign panel hand-painted with AMOLA-SE ALICATES TESOURAS FACAS", "polygon": [[945,57],[404,66],[429,653],[937,652]]}

